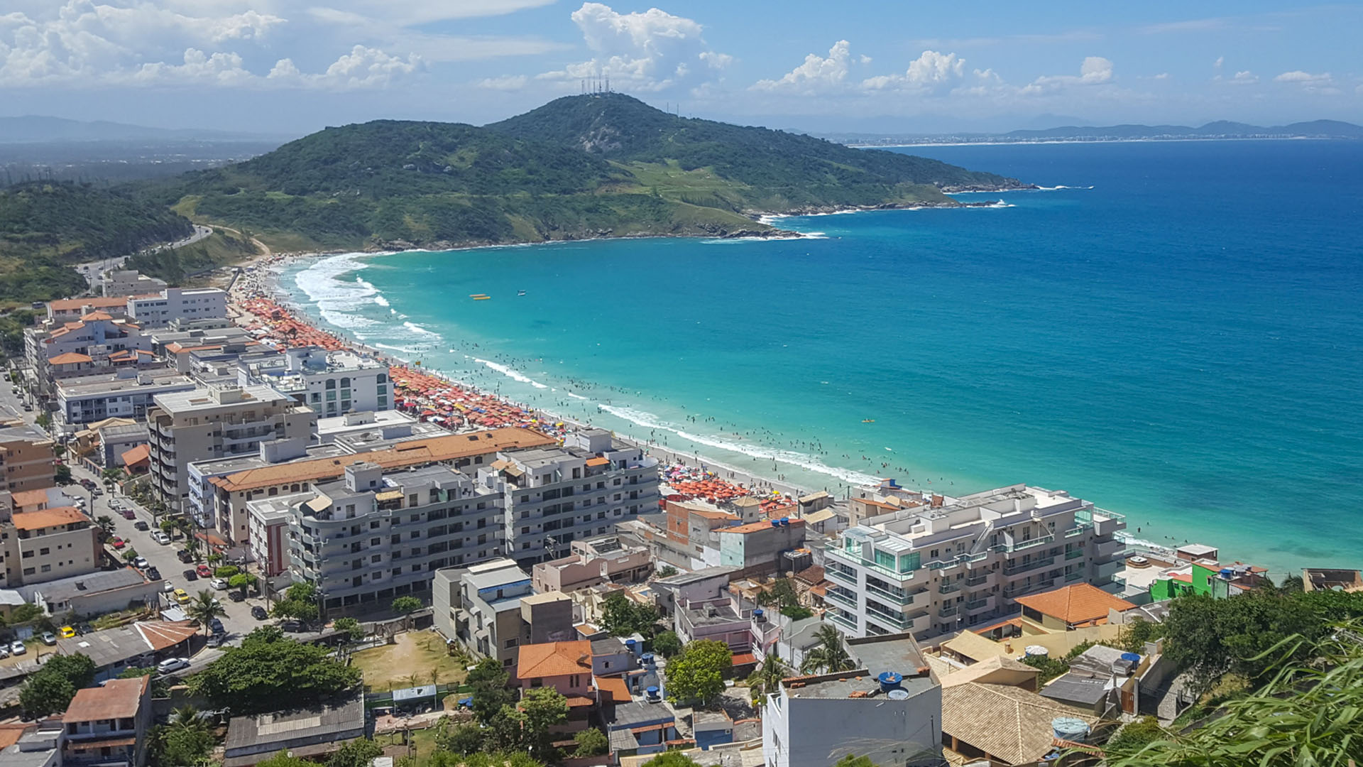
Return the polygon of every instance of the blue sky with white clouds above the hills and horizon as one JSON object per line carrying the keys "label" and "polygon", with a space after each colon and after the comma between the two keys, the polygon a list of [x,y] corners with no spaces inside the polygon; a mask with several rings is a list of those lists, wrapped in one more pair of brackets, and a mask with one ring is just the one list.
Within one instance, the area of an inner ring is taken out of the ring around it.
{"label": "blue sky with white clouds above the hills and horizon", "polygon": [[1363,4],[8,0],[0,115],[485,123],[585,75],[816,131],[1363,123]]}

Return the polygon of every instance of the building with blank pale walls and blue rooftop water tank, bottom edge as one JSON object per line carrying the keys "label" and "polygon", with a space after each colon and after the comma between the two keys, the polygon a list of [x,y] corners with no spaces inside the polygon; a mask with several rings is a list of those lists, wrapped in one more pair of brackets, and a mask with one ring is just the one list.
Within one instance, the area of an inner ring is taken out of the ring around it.
{"label": "building with blank pale walls and blue rooftop water tank, bottom edge", "polygon": [[762,710],[766,767],[942,764],[942,686],[908,633],[848,641],[853,669],[784,680]]}

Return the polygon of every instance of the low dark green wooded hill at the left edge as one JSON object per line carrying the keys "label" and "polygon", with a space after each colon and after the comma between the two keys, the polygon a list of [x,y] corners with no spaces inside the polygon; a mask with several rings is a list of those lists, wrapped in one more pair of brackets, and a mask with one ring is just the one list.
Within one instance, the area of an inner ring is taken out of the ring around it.
{"label": "low dark green wooded hill at the left edge", "polygon": [[191,232],[181,216],[127,194],[57,182],[0,188],[0,304],[80,293],[86,281],[70,265]]}

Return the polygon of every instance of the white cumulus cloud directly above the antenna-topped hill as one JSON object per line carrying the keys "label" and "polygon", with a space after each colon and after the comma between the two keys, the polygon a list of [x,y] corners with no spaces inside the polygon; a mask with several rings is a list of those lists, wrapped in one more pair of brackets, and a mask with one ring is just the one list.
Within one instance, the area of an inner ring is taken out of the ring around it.
{"label": "white cumulus cloud directly above the antenna-topped hill", "polygon": [[733,60],[705,42],[698,22],[658,8],[620,14],[602,3],[583,3],[572,12],[572,23],[582,31],[593,57],[544,72],[540,79],[575,83],[601,75],[620,89],[695,87]]}

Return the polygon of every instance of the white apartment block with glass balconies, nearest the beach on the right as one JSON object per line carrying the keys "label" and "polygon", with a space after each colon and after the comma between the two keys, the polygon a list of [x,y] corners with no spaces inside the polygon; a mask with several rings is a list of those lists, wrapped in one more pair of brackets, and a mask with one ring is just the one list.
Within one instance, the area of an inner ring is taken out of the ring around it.
{"label": "white apartment block with glass balconies, nearest the beach on the right", "polygon": [[1120,515],[1014,484],[868,517],[825,551],[827,618],[851,636],[925,639],[1017,613],[1069,583],[1116,588]]}

